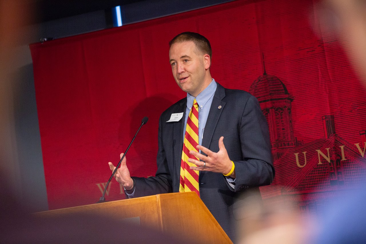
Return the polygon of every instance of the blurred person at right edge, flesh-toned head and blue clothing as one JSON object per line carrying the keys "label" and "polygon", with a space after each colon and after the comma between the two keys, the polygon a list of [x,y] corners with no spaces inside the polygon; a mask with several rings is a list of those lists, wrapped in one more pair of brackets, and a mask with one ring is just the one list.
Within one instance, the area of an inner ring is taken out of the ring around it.
{"label": "blurred person at right edge, flesh-toned head and blue clothing", "polygon": [[[315,11],[320,26],[340,41],[366,89],[366,0],[323,0]],[[325,204],[312,243],[365,242],[365,183]]]}

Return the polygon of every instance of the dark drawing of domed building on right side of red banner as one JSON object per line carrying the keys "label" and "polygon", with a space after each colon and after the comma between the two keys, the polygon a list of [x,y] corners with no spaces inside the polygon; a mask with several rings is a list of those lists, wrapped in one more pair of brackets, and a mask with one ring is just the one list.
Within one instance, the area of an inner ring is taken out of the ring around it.
{"label": "dark drawing of domed building on right side of red banner", "polygon": [[273,183],[261,187],[265,201],[276,197],[300,200],[301,211],[316,211],[326,199],[364,181],[366,130],[356,132],[362,143],[349,143],[336,133],[335,117],[324,115],[324,137],[299,141],[292,127],[291,103],[295,97],[279,78],[267,74],[264,66],[264,74],[253,82],[249,92],[257,97],[267,119],[276,171]]}

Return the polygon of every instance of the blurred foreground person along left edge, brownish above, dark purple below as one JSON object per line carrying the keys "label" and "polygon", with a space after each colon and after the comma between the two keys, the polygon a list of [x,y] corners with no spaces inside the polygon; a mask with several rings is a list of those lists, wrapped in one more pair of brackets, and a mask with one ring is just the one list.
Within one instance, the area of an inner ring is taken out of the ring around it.
{"label": "blurred foreground person along left edge, brownish above, dark purple below", "polygon": [[[30,214],[15,186],[20,176],[14,132],[14,49],[21,29],[33,17],[34,1],[0,0],[0,243],[188,243],[160,231],[124,226],[103,215],[73,214],[40,217]],[[36,201],[35,201],[36,202]]]}

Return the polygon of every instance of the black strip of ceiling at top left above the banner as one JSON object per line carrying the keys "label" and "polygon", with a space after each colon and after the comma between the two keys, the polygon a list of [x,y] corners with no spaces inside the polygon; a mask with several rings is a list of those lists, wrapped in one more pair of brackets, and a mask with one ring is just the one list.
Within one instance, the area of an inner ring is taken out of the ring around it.
{"label": "black strip of ceiling at top left above the banner", "polygon": [[34,21],[51,21],[141,1],[143,0],[36,0],[37,15]]}

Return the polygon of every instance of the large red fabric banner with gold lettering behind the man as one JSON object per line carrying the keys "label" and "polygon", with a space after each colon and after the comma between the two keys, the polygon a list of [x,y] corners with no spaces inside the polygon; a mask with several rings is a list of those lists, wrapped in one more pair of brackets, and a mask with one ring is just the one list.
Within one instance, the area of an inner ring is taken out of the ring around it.
{"label": "large red fabric banner with gold lettering behind the man", "polygon": [[[265,199],[300,195],[306,210],[353,188],[366,173],[365,91],[339,44],[315,36],[312,12],[308,1],[234,1],[30,45],[49,208],[97,202],[108,161],[145,116],[127,165],[154,175],[158,118],[185,96],[168,56],[184,31],[210,40],[217,82],[261,103],[276,169]],[[106,198],[124,198],[115,180]]]}

